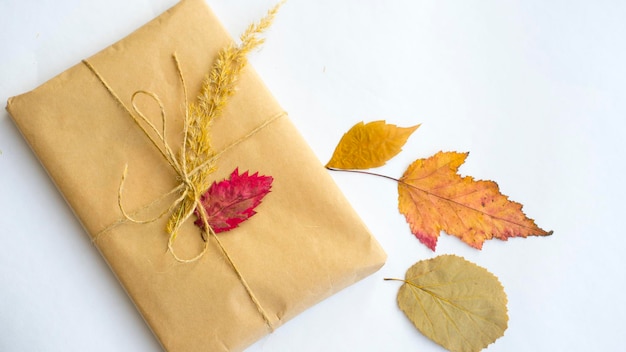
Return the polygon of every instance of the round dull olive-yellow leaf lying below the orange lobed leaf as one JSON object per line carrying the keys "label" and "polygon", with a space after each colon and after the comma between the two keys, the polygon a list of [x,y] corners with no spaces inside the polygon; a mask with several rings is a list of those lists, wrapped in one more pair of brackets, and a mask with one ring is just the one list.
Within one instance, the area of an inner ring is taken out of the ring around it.
{"label": "round dull olive-yellow leaf lying below the orange lobed leaf", "polygon": [[[397,280],[397,279],[387,279]],[[480,351],[504,335],[507,297],[498,278],[461,257],[414,264],[398,306],[426,337],[455,352]]]}

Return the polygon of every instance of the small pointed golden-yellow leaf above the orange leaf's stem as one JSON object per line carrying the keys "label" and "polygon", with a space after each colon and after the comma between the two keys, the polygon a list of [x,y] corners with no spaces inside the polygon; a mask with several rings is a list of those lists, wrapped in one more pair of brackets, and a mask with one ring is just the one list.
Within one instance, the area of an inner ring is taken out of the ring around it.
{"label": "small pointed golden-yellow leaf above the orange leaf's stem", "polygon": [[341,137],[326,167],[370,169],[383,166],[400,153],[406,140],[419,126],[398,127],[382,120],[367,124],[359,122]]}

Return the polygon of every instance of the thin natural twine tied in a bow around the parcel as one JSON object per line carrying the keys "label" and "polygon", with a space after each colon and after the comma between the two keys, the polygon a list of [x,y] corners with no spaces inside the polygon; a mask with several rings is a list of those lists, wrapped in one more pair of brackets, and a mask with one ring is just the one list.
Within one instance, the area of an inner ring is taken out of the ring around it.
{"label": "thin natural twine tied in a bow around the parcel", "polygon": [[[205,160],[199,166],[197,166],[196,168],[194,168],[193,170],[188,172],[187,171],[186,158],[185,158],[185,153],[186,153],[186,150],[187,150],[187,136],[188,136],[188,133],[189,133],[189,111],[186,108],[188,106],[187,87],[186,87],[186,82],[185,82],[185,79],[184,79],[184,76],[183,76],[183,73],[182,73],[181,65],[180,65],[180,62],[178,61],[176,53],[174,53],[173,59],[174,59],[175,65],[176,65],[176,70],[177,70],[179,79],[180,79],[181,84],[183,86],[183,94],[184,94],[184,101],[185,101],[185,118],[184,118],[184,123],[183,123],[184,138],[183,138],[183,143],[182,143],[182,148],[181,148],[182,152],[180,153],[180,160],[176,158],[176,155],[172,151],[169,143],[167,142],[167,139],[166,139],[167,114],[166,114],[166,111],[165,111],[164,104],[161,101],[161,99],[158,97],[158,95],[153,93],[153,92],[145,91],[145,90],[138,90],[138,91],[134,92],[132,97],[131,97],[131,105],[132,105],[132,110],[131,110],[124,104],[124,102],[119,98],[119,96],[115,93],[115,91],[111,88],[111,86],[106,82],[106,80],[102,77],[102,75],[100,75],[100,73],[95,69],[95,67],[93,67],[93,65],[91,65],[91,63],[89,63],[87,60],[83,60],[82,61],[83,64],[85,64],[85,66],[87,66],[87,68],[89,68],[89,70],[95,75],[95,77],[100,81],[100,83],[104,86],[104,88],[109,92],[109,94],[119,104],[119,106],[122,107],[125,110],[125,112],[133,119],[133,121],[141,129],[143,134],[146,137],[148,137],[148,139],[150,140],[152,145],[159,151],[159,153],[161,154],[163,159],[170,165],[172,170],[176,173],[177,179],[180,181],[180,184],[178,186],[176,186],[175,188],[173,188],[171,191],[165,193],[164,195],[162,195],[158,199],[156,199],[153,202],[147,204],[146,206],[140,208],[134,214],[131,214],[131,213],[129,213],[125,209],[125,207],[123,205],[124,204],[124,202],[123,202],[124,183],[125,183],[125,180],[126,180],[126,177],[127,177],[127,174],[128,174],[128,164],[126,164],[125,167],[124,167],[124,171],[122,173],[120,185],[119,185],[119,188],[118,188],[118,206],[119,206],[119,209],[120,209],[120,211],[122,213],[122,218],[120,220],[114,222],[113,224],[107,226],[106,228],[104,228],[102,231],[100,231],[98,234],[96,234],[96,236],[94,238],[97,239],[102,233],[110,231],[111,229],[113,229],[113,228],[123,224],[126,221],[129,221],[129,222],[132,222],[132,223],[137,223],[137,224],[147,224],[147,223],[152,223],[152,222],[157,221],[158,219],[160,219],[161,217],[165,216],[166,214],[176,213],[177,214],[176,215],[176,221],[174,223],[174,226],[172,227],[172,230],[170,231],[170,236],[169,236],[169,239],[168,239],[167,248],[168,248],[168,251],[171,253],[171,255],[174,257],[174,259],[176,261],[181,262],[181,263],[192,263],[192,262],[195,262],[198,259],[202,258],[206,254],[206,252],[209,249],[209,238],[205,238],[203,236],[204,246],[203,246],[202,250],[196,256],[194,256],[192,258],[189,258],[189,259],[181,258],[181,257],[179,257],[176,254],[176,251],[174,250],[174,241],[176,240],[176,236],[177,236],[178,231],[180,230],[182,224],[184,224],[187,220],[189,220],[189,218],[194,214],[195,210],[198,210],[197,211],[197,215],[200,218],[200,220],[202,221],[203,229],[204,229],[203,231],[205,233],[207,233],[210,238],[213,238],[215,240],[215,243],[217,244],[218,248],[222,252],[224,258],[228,261],[229,265],[232,267],[233,271],[237,275],[237,278],[239,279],[240,283],[242,284],[242,286],[246,290],[246,293],[248,294],[248,296],[250,297],[250,299],[252,300],[252,302],[256,306],[257,310],[259,311],[260,315],[262,316],[263,320],[265,321],[265,324],[270,329],[270,331],[274,331],[274,324],[270,320],[267,312],[265,311],[265,309],[263,308],[263,306],[259,302],[259,300],[256,297],[256,295],[253,293],[253,291],[252,291],[251,287],[249,286],[248,282],[245,280],[243,274],[241,273],[241,271],[239,270],[239,268],[235,264],[234,260],[232,259],[232,257],[230,256],[230,254],[228,253],[228,251],[226,250],[226,248],[224,247],[224,245],[220,241],[219,237],[216,235],[215,231],[210,226],[209,219],[208,219],[209,218],[208,214],[207,214],[206,209],[204,208],[204,206],[202,205],[202,202],[200,200],[200,197],[201,197],[201,193],[200,192],[201,191],[196,189],[195,185],[193,184],[192,177],[194,175],[196,175],[197,173],[202,172],[203,170],[205,170],[205,168],[210,167],[210,165],[212,165],[216,160],[218,160],[226,151],[230,150],[231,148],[233,148],[236,145],[238,145],[238,144],[242,143],[243,141],[247,140],[248,138],[250,138],[254,134],[258,133],[259,131],[261,131],[262,129],[264,129],[268,125],[270,125],[272,122],[274,122],[277,119],[279,119],[280,117],[284,116],[285,113],[284,112],[283,113],[279,113],[279,114],[271,117],[270,119],[264,121],[262,124],[260,124],[256,128],[254,128],[252,131],[250,131],[249,133],[247,133],[243,137],[239,138],[238,140],[235,140],[234,142],[230,143],[224,149],[222,149],[220,152],[215,153],[210,158],[207,158],[207,160]],[[160,115],[161,115],[161,123],[162,123],[161,131],[159,131],[159,129],[156,127],[156,125],[152,121],[150,121],[140,111],[140,109],[137,107],[135,100],[136,100],[137,96],[139,96],[139,95],[145,95],[145,96],[151,98],[159,106],[159,111],[160,111]],[[146,128],[144,125],[148,126],[148,128]],[[152,131],[152,133],[150,131]],[[153,134],[156,135],[158,138],[155,139],[153,137]],[[159,144],[161,144],[162,147]],[[142,210],[145,210],[147,208],[150,208],[150,207],[154,206],[157,203],[160,203],[165,198],[170,197],[171,195],[173,195],[175,193],[180,193],[180,196],[177,197],[170,204],[170,206],[168,206],[166,209],[161,211],[156,217],[153,217],[153,218],[150,218],[150,219],[143,219],[143,220],[135,218],[135,215],[137,213],[139,213]],[[184,207],[183,206],[183,202],[185,201],[185,199],[188,199],[188,198],[193,200],[193,202],[192,202],[193,206],[191,206],[191,207]],[[184,208],[187,208],[187,209],[184,209]]]}

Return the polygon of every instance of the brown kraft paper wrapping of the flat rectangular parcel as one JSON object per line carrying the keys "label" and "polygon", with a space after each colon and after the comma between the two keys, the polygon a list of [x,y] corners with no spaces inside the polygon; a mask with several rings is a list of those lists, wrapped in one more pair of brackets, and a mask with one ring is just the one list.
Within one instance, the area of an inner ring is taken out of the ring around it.
{"label": "brown kraft paper wrapping of the flat rectangular parcel", "polygon": [[[184,98],[172,54],[194,98],[229,41],[204,2],[188,0],[88,61],[127,106],[135,91],[157,94],[167,113],[168,143],[178,151]],[[138,105],[161,128],[155,103],[139,99]],[[200,260],[181,264],[166,252],[167,216],[118,224],[126,164],[123,201],[131,212],[143,209],[138,217],[171,204],[170,198],[144,208],[177,186],[176,174],[86,65],[10,99],[7,110],[166,350],[242,350],[270,331],[214,240]],[[281,113],[246,69],[214,125],[215,149]],[[226,151],[213,176],[221,180],[236,167],[274,177],[258,214],[219,236],[275,326],[384,263],[378,243],[288,117]],[[188,221],[175,248],[191,257],[202,243]]]}

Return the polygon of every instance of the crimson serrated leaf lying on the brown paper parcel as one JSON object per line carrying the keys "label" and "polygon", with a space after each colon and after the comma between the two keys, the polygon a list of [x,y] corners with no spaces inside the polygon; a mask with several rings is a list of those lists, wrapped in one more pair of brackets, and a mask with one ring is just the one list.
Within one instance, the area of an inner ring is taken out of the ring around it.
{"label": "crimson serrated leaf lying on the brown paper parcel", "polygon": [[[219,233],[234,229],[256,214],[254,208],[270,192],[273,180],[271,176],[259,176],[256,172],[248,175],[246,171],[240,175],[239,169],[235,169],[229,179],[213,182],[200,198],[213,231]],[[195,214],[198,219],[194,224],[204,228],[198,209]]]}

